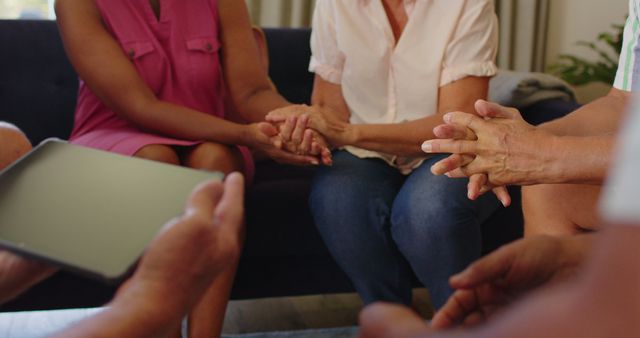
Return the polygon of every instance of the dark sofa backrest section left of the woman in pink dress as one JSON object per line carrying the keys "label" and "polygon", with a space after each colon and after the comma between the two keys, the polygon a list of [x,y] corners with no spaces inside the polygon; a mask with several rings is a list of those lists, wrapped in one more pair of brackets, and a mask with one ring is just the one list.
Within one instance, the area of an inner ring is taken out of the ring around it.
{"label": "dark sofa backrest section left of the woman in pink dress", "polygon": [[55,22],[0,20],[0,119],[17,124],[34,144],[67,138],[78,78]]}

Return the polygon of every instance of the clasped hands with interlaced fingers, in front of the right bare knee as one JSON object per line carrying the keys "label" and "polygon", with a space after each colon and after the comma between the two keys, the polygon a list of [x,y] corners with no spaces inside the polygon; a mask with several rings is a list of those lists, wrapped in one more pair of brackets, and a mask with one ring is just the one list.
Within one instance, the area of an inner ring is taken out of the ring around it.
{"label": "clasped hands with interlaced fingers, in front of the right bare knee", "polygon": [[550,163],[544,149],[553,146],[554,136],[526,123],[516,109],[480,100],[476,110],[485,119],[454,112],[444,117],[449,126],[438,128],[468,128],[477,140],[430,140],[422,145],[427,153],[462,155],[436,163],[434,174],[487,174],[489,187],[538,183]]}

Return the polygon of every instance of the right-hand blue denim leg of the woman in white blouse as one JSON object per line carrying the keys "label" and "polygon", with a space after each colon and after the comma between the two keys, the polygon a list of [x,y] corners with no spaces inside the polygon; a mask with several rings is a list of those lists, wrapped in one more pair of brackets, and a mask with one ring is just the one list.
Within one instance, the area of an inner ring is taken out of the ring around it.
{"label": "right-hand blue denim leg of the woman in white blouse", "polygon": [[436,308],[452,293],[449,277],[480,257],[480,222],[499,206],[490,194],[469,200],[466,178],[433,175],[431,166],[443,157],[426,160],[409,175],[391,214],[393,239]]}

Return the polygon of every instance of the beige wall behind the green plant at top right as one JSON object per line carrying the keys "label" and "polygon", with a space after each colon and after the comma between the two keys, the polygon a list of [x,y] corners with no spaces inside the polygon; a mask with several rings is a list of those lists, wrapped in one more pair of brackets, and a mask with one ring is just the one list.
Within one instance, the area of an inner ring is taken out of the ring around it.
{"label": "beige wall behind the green plant at top right", "polygon": [[[623,24],[628,4],[627,0],[551,0],[546,64],[567,53],[594,59],[596,55],[575,43],[594,41],[600,32],[612,30],[611,24]],[[604,95],[609,88],[599,84],[579,88],[580,101]]]}

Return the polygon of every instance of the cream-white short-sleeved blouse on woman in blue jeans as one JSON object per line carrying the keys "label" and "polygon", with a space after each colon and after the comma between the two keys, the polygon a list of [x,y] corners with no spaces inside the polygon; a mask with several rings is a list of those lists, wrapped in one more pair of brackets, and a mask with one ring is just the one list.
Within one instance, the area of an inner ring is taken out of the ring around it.
{"label": "cream-white short-sleeved blouse on woman in blue jeans", "polygon": [[[409,21],[395,41],[381,0],[317,0],[309,70],[339,84],[351,123],[401,123],[434,115],[438,89],[493,76],[498,47],[492,0],[405,0]],[[422,159],[355,147],[408,173]]]}

